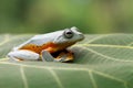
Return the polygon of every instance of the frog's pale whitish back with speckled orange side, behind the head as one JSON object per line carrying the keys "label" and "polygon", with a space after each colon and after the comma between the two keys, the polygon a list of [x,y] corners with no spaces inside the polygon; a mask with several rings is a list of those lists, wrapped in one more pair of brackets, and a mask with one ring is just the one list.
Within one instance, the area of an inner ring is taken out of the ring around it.
{"label": "frog's pale whitish back with speckled orange side, behind the head", "polygon": [[35,35],[14,48],[16,50],[29,50],[35,53],[40,53],[42,50],[45,50],[54,45],[53,41],[55,36],[57,36],[57,32]]}

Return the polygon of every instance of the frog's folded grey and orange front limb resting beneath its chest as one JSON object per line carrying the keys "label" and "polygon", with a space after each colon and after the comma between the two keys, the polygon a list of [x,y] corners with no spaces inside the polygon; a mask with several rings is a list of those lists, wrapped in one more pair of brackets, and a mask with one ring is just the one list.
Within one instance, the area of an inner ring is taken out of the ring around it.
{"label": "frog's folded grey and orange front limb resting beneath its chest", "polygon": [[42,51],[42,61],[47,62],[72,62],[72,52],[61,52],[57,57],[53,57],[48,51]]}

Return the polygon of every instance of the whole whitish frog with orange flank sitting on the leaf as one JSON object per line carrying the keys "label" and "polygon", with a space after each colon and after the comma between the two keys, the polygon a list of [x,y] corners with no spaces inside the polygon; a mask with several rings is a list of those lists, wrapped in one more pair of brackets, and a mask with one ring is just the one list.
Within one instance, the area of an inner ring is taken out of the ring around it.
{"label": "whole whitish frog with orange flank sitting on the leaf", "polygon": [[66,48],[83,38],[75,26],[40,34],[13,47],[8,57],[10,61],[71,62],[73,53]]}

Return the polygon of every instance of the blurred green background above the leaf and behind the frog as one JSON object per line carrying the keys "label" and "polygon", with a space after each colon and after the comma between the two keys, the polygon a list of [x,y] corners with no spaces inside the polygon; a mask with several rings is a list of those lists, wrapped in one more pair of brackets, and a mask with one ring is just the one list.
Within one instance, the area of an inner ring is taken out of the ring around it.
{"label": "blurred green background above the leaf and behind the frog", "polygon": [[0,0],[0,33],[133,33],[133,0]]}

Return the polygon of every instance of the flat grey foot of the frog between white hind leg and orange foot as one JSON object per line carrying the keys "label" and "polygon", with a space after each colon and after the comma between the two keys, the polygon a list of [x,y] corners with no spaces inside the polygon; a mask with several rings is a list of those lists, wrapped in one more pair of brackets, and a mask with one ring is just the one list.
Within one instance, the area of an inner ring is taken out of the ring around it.
{"label": "flat grey foot of the frog between white hind leg and orange foot", "polygon": [[42,52],[42,61],[47,61],[47,62],[53,62],[54,57],[47,51]]}

